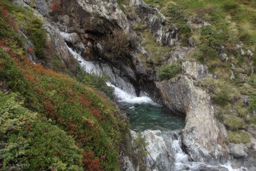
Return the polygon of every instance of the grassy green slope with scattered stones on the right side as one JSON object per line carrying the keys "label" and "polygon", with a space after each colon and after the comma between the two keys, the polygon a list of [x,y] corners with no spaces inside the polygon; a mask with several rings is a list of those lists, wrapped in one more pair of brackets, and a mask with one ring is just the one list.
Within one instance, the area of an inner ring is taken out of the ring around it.
{"label": "grassy green slope with scattered stones on the right side", "polygon": [[[249,134],[241,130],[256,127],[256,1],[145,2],[157,7],[168,24],[178,28],[181,44],[172,51],[189,47],[189,41],[195,44],[184,60],[207,65],[217,77],[200,80],[198,85],[212,95],[217,118],[230,130],[229,140],[247,143]],[[223,53],[226,58],[220,56]],[[249,98],[249,105],[242,97]]]}

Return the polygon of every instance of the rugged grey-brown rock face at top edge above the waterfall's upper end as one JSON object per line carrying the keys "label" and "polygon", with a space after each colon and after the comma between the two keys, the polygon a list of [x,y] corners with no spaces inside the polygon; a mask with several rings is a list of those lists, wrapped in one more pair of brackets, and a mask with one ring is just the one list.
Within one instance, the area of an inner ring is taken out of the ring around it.
{"label": "rugged grey-brown rock face at top edge above the waterfall's upper end", "polygon": [[59,27],[63,31],[78,32],[80,34],[99,33],[114,28],[129,31],[129,22],[114,0],[76,0],[76,1],[56,1],[61,6],[65,18],[57,20]]}

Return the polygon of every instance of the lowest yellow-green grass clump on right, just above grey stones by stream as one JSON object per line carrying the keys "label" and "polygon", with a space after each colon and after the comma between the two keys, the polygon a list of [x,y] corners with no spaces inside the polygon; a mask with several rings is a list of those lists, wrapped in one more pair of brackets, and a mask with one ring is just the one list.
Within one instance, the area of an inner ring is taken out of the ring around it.
{"label": "lowest yellow-green grass clump on right, just above grey stones by stream", "polygon": [[250,143],[250,134],[248,132],[228,132],[228,138],[230,143],[246,144]]}

